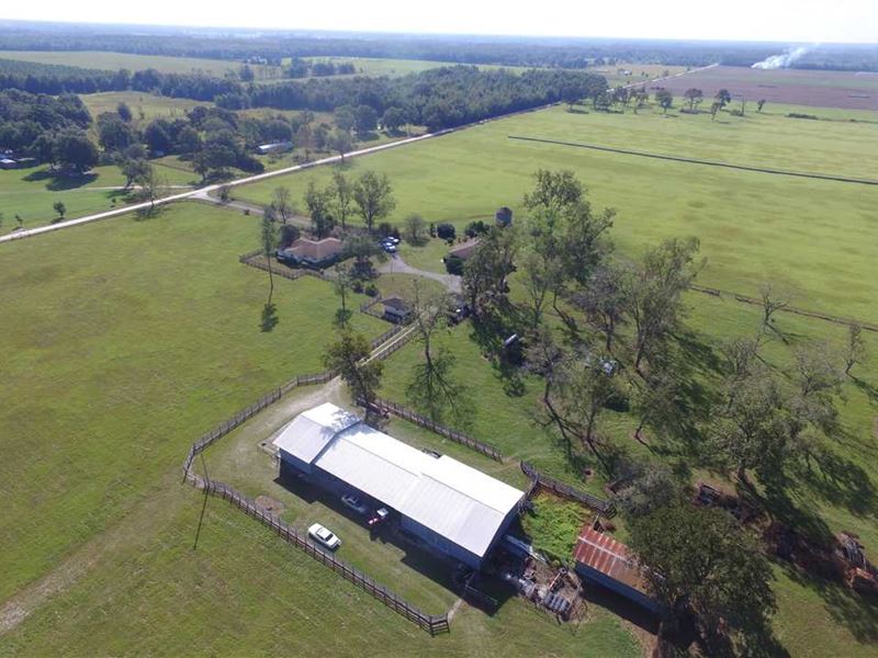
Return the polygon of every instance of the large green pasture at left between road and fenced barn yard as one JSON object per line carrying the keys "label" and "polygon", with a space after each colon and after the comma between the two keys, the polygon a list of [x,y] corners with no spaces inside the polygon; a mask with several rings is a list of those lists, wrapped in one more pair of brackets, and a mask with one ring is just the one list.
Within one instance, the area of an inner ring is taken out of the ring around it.
{"label": "large green pasture at left between road and fenced barn yard", "polygon": [[[323,370],[328,283],[238,263],[255,218],[187,203],[0,246],[0,600],[117,523],[188,445]],[[359,315],[370,336],[385,324]]]}

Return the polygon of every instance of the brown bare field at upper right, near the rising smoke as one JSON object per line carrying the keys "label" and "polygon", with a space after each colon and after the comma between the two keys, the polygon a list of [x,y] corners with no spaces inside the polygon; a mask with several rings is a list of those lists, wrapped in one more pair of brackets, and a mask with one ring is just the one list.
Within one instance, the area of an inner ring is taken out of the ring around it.
{"label": "brown bare field at upper right, near the rising smoke", "polygon": [[664,87],[675,94],[697,88],[711,98],[728,89],[732,98],[812,107],[878,110],[878,75],[853,71],[751,69],[717,66],[668,78],[650,87]]}

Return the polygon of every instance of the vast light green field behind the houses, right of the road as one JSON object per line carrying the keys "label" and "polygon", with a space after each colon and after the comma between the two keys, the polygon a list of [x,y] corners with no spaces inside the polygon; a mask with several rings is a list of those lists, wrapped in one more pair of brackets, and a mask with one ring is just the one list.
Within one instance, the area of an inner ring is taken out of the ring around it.
{"label": "vast light green field behind the houses, right of the road", "polygon": [[[810,309],[878,320],[878,186],[818,181],[630,155],[525,143],[525,135],[627,147],[742,164],[853,177],[875,175],[878,132],[870,124],[811,122],[777,115],[663,118],[660,113],[575,114],[561,107],[491,122],[446,137],[358,158],[391,178],[397,206],[462,229],[500,205],[522,216],[521,198],[538,168],[572,169],[596,207],[618,211],[612,237],[622,254],[673,236],[697,236],[708,266],[705,285],[755,295],[765,281],[792,291]],[[273,179],[235,190],[268,203],[279,185],[302,197],[331,170]],[[435,268],[441,265],[430,257]]]}

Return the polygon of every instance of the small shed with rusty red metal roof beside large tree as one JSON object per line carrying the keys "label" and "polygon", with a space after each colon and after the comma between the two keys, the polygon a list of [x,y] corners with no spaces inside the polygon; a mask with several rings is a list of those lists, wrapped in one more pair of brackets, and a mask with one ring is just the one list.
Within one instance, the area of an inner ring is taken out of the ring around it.
{"label": "small shed with rusty red metal roof beside large tree", "polygon": [[585,580],[621,594],[650,612],[660,611],[660,604],[646,592],[637,560],[621,542],[586,526],[579,533],[574,558],[576,572]]}

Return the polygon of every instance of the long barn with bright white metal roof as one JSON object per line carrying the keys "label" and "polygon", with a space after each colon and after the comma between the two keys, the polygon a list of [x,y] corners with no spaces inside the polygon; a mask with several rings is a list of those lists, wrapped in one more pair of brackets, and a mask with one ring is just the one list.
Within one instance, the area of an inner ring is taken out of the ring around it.
{"label": "long barn with bright white metal roof", "polygon": [[338,495],[358,494],[398,513],[401,527],[480,568],[525,492],[446,455],[380,432],[331,404],[314,407],[274,439],[281,475],[305,475]]}

